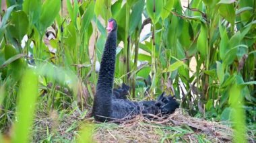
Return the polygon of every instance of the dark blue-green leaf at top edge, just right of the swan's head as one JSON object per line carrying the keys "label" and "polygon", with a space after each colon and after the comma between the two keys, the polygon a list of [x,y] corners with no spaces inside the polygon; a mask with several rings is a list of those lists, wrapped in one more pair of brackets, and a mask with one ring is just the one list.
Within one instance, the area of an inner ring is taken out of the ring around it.
{"label": "dark blue-green leaf at top edge, just right of the swan's head", "polygon": [[144,7],[144,1],[139,0],[132,8],[131,16],[129,17],[129,35],[131,35],[135,28],[139,25],[141,21],[141,14]]}

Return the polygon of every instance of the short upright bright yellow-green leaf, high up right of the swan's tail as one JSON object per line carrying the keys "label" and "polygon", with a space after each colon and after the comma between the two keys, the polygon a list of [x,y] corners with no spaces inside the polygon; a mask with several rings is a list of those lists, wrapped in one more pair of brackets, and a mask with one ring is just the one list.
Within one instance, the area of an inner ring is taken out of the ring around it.
{"label": "short upright bright yellow-green leaf, high up right of the swan's tail", "polygon": [[207,28],[205,27],[204,24],[202,24],[201,31],[200,31],[200,34],[197,39],[197,50],[199,50],[200,56],[202,58],[205,58],[207,55],[207,53],[206,53],[206,49],[208,48],[207,47],[207,45],[208,45],[207,37],[208,37]]}

